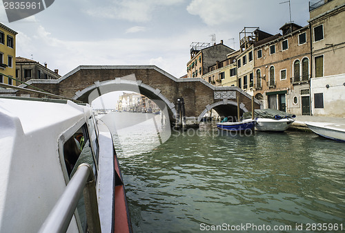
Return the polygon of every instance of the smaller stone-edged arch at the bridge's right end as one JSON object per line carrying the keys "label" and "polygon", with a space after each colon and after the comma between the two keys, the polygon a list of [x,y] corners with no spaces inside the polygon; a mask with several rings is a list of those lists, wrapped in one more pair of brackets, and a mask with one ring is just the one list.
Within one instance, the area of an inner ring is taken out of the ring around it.
{"label": "smaller stone-edged arch at the bridge's right end", "polygon": [[[218,102],[215,102],[213,104],[208,104],[206,106],[206,109],[204,109],[204,111],[201,112],[201,114],[199,115],[199,117],[197,118],[197,121],[198,122],[201,122],[202,118],[204,117],[204,115],[210,111],[211,109],[215,109],[215,111],[217,111],[217,113],[219,115],[222,115],[222,116],[228,116],[228,115],[234,115],[236,116],[236,114],[234,113],[228,113],[228,112],[222,112],[221,111],[221,107],[224,107],[224,106],[227,106],[227,105],[230,105],[230,107],[232,107],[233,111],[236,111],[237,112],[237,102],[233,101],[233,100],[221,100],[221,101],[218,101]],[[227,110],[231,110],[231,108],[227,108]],[[242,110],[242,112],[246,113],[248,111],[248,109],[246,108],[246,106],[244,105],[244,103],[240,103],[239,104],[239,109]],[[241,114],[242,115],[242,114]]]}

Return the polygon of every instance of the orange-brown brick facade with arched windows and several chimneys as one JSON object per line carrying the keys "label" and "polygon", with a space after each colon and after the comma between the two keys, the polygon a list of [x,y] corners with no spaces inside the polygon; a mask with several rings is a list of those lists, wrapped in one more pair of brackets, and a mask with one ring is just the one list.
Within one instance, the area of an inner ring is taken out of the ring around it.
{"label": "orange-brown brick facade with arched windows and several chimneys", "polygon": [[310,115],[309,27],[286,23],[280,30],[282,35],[255,44],[254,96],[262,99],[264,108]]}

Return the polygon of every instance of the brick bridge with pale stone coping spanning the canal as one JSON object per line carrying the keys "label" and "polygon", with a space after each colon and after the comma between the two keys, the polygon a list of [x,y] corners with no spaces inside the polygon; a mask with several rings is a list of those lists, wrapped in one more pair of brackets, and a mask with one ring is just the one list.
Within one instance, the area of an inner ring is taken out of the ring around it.
{"label": "brick bridge with pale stone coping spanning the canal", "polygon": [[[241,102],[241,115],[251,111],[251,96],[238,87],[214,87],[201,78],[175,78],[155,65],[79,66],[58,80],[32,79],[27,83],[88,103],[112,91],[135,91],[157,102],[161,109],[167,107],[170,120],[177,115],[178,98],[184,98],[187,120],[195,122],[199,122],[210,109],[215,109],[219,115],[237,116],[237,96]],[[21,93],[23,91],[17,91],[17,96]],[[260,108],[258,100],[255,100],[254,108]]]}

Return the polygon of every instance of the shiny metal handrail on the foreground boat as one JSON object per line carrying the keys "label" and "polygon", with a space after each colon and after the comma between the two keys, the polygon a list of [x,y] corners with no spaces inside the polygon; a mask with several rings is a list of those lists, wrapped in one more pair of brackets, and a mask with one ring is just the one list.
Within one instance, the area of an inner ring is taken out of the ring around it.
{"label": "shiny metal handrail on the foreground boat", "polygon": [[66,232],[83,191],[88,232],[101,232],[95,177],[89,164],[80,164],[39,233]]}

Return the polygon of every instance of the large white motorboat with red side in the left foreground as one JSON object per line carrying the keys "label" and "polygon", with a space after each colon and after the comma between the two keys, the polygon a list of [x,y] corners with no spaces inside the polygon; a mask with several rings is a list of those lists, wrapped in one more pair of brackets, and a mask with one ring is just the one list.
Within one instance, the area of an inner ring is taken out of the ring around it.
{"label": "large white motorboat with red side in the left foreground", "polygon": [[0,156],[0,232],[132,231],[112,137],[88,104],[1,97]]}

